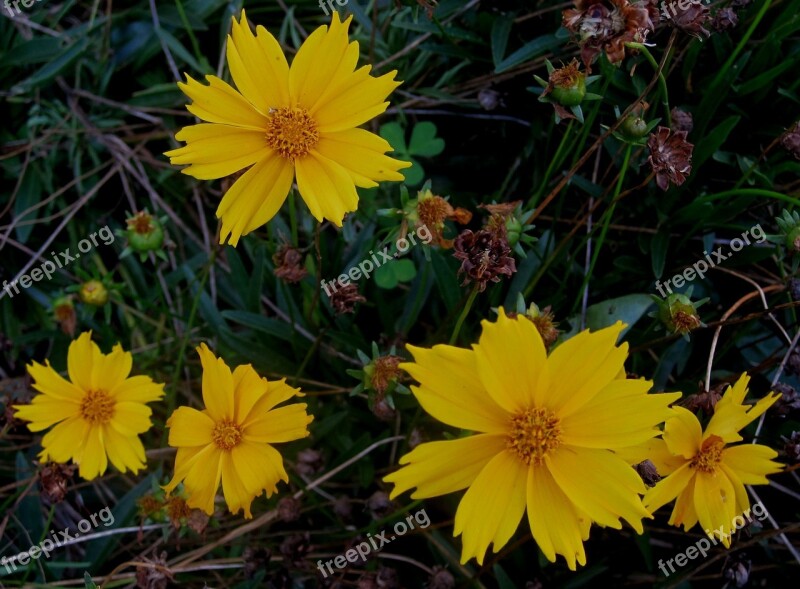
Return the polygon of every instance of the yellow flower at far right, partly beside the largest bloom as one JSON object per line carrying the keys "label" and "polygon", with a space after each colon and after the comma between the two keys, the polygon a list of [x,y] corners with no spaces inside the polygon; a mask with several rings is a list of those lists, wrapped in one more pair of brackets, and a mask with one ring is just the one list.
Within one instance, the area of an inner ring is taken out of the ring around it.
{"label": "yellow flower at far right, partly beside the largest bloom", "polygon": [[778,453],[760,444],[740,444],[739,430],[758,418],[780,395],[770,393],[755,405],[743,405],[750,377],[743,374],[714,408],[705,431],[691,411],[675,407],[675,416],[664,424],[661,456],[666,446],[672,458],[656,464],[669,476],[644,496],[644,504],[655,511],[676,497],[669,523],[689,530],[698,521],[709,537],[716,534],[728,547],[734,519],[750,508],[745,485],[766,485],[768,474],[781,470],[773,462]]}

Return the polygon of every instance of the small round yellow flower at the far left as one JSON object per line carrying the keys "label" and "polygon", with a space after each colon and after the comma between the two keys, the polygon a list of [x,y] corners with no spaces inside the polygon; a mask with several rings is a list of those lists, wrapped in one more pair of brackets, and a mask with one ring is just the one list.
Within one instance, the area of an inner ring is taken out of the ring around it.
{"label": "small round yellow flower at the far left", "polygon": [[42,439],[41,460],[72,459],[86,480],[105,473],[109,460],[120,472],[144,468],[139,434],[152,425],[146,403],[163,397],[164,385],[149,376],[129,378],[132,364],[131,353],[119,344],[110,354],[101,353],[87,331],[69,345],[69,381],[49,361],[28,365],[33,388],[41,394],[30,405],[14,408],[16,417],[31,422],[32,432],[55,426]]}

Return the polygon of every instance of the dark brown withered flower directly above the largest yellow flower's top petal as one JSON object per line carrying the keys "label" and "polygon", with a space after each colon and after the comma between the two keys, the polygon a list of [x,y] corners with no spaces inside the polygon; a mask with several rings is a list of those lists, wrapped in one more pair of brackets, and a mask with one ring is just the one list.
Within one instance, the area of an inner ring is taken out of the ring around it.
{"label": "dark brown withered flower directly above the largest yellow flower's top petal", "polygon": [[461,260],[458,273],[466,274],[462,286],[475,282],[483,292],[489,281],[500,282],[503,275],[511,276],[517,271],[505,232],[481,229],[473,233],[466,229],[459,233],[454,245],[453,256]]}

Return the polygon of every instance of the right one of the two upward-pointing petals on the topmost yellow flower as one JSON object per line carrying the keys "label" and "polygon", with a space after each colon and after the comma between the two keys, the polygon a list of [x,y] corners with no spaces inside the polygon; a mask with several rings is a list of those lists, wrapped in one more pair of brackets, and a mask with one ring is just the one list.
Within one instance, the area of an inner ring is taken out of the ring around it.
{"label": "right one of the two upward-pointing petals on the topmost yellow flower", "polygon": [[330,27],[318,27],[300,46],[289,70],[289,95],[292,106],[313,114],[317,103],[331,86],[342,83],[358,61],[358,43],[350,43],[347,29],[352,17],[344,23],[334,13]]}

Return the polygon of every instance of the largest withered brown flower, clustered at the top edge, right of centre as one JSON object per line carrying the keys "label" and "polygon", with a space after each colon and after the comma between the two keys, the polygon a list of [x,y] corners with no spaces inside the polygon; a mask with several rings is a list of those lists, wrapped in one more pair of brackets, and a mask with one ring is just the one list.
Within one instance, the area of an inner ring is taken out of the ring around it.
{"label": "largest withered brown flower, clustered at the top edge, right of centre", "polygon": [[586,70],[605,51],[613,64],[625,58],[625,43],[643,43],[655,29],[657,11],[650,2],[631,4],[628,0],[575,0],[575,8],[564,11],[564,28],[578,37],[581,60]]}

